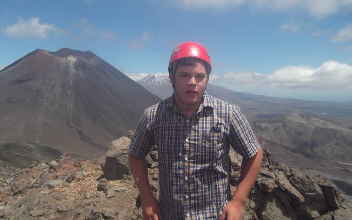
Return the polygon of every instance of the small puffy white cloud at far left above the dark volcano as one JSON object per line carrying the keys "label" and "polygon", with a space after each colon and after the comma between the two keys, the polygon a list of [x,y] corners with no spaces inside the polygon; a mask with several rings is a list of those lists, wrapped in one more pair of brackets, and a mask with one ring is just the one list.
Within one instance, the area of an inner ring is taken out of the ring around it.
{"label": "small puffy white cloud at far left above the dark volcano", "polygon": [[39,18],[22,19],[2,30],[9,37],[12,38],[47,38],[50,32],[61,33],[62,30],[58,29],[54,24],[40,24]]}

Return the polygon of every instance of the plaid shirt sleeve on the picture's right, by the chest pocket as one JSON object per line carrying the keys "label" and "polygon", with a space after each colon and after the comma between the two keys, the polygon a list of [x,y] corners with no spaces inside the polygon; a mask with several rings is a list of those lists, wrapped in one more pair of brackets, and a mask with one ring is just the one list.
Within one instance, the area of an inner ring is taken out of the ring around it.
{"label": "plaid shirt sleeve on the picture's right, by the chest pocket", "polygon": [[260,149],[249,122],[237,106],[233,110],[229,127],[229,141],[232,148],[247,159],[253,157]]}

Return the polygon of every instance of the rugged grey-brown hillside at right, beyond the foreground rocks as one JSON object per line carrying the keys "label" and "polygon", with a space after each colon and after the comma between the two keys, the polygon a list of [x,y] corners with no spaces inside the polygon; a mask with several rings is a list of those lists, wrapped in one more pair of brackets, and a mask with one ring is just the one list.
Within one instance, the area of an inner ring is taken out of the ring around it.
{"label": "rugged grey-brown hillside at right, beyond the foreground rocks", "polygon": [[[290,113],[253,121],[273,158],[332,179],[348,195],[352,186],[352,130],[323,118]],[[348,190],[349,188],[349,190]]]}

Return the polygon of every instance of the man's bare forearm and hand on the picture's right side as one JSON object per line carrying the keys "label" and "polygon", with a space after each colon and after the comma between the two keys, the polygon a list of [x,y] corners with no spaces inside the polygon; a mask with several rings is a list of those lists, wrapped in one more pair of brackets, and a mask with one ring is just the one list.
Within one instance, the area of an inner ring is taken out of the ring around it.
{"label": "man's bare forearm and hand on the picture's right side", "polygon": [[261,148],[253,157],[243,158],[240,182],[232,200],[224,208],[222,220],[242,219],[243,206],[259,174],[262,159]]}

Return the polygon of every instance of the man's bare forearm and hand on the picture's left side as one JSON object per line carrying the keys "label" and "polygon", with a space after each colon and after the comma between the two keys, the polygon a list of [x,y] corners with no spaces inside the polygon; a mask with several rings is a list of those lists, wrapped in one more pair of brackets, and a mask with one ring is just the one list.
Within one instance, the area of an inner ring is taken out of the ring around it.
{"label": "man's bare forearm and hand on the picture's left side", "polygon": [[143,219],[161,219],[159,202],[150,189],[146,159],[134,157],[129,153],[128,160],[129,168],[141,196]]}

